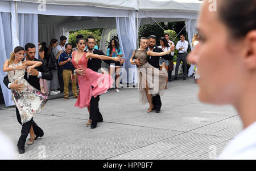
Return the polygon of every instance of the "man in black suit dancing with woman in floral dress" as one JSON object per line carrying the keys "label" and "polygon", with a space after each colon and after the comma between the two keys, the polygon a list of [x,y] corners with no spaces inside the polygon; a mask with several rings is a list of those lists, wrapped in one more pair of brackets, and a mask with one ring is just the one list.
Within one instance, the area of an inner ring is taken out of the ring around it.
{"label": "man in black suit dancing with woman in floral dress", "polygon": [[[23,61],[24,60],[42,61],[41,59],[35,58],[36,47],[32,43],[28,43],[25,45],[25,53],[26,53],[26,57],[23,59]],[[40,83],[39,83],[40,78],[52,80],[52,74],[51,74],[51,72],[49,72],[48,67],[44,63],[43,63],[43,65],[41,65],[39,67],[35,67],[35,69],[31,69],[30,73],[27,73],[27,71],[26,71],[24,74],[24,79],[26,79],[28,81],[28,83],[31,84],[31,86],[38,89],[39,91],[40,91]],[[19,91],[20,89],[23,88],[22,84],[16,84],[16,82],[11,84],[9,82],[7,75],[5,76],[3,83],[5,83],[6,87],[8,87],[9,89],[16,89]],[[21,125],[22,123],[21,123],[18,108],[16,108],[16,117],[18,119],[18,122]],[[30,130],[32,130],[32,129],[34,130],[34,133],[36,135],[35,139],[37,139],[38,137],[42,137],[44,135],[44,131],[35,123],[33,118],[29,122],[24,123],[22,125],[21,135],[20,135],[20,138],[19,138],[19,141],[17,144],[19,153],[25,152],[24,146],[26,143],[27,135],[30,132]]]}

